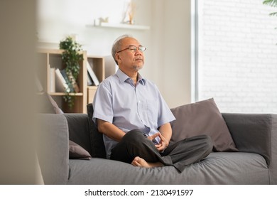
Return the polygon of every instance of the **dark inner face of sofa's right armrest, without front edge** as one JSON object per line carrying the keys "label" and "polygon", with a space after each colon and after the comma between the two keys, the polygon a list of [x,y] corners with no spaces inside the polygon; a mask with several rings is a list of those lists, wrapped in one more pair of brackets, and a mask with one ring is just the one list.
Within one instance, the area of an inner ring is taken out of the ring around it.
{"label": "dark inner face of sofa's right armrest, without front edge", "polygon": [[260,154],[271,163],[271,114],[222,113],[239,151]]}

